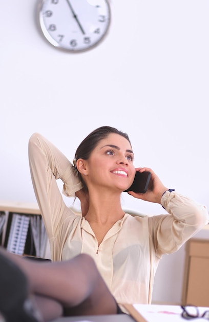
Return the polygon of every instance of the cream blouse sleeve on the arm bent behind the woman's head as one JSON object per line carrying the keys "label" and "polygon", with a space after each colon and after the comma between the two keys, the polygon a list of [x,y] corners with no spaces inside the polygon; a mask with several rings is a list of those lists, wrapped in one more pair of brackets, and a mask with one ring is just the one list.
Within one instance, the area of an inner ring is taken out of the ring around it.
{"label": "cream blouse sleeve on the arm bent behind the woman's head", "polygon": [[64,154],[38,133],[34,133],[29,139],[29,165],[47,234],[49,238],[55,238],[61,234],[61,223],[70,216],[75,216],[65,204],[56,181],[61,179],[64,193],[73,196],[82,188],[77,170]]}

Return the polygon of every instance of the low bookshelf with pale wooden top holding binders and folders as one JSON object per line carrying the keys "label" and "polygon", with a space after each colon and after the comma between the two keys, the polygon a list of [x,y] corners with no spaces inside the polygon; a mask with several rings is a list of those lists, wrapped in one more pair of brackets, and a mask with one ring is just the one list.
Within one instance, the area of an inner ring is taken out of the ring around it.
{"label": "low bookshelf with pale wooden top holding binders and folders", "polygon": [[0,201],[0,245],[8,252],[44,258],[47,241],[36,203]]}

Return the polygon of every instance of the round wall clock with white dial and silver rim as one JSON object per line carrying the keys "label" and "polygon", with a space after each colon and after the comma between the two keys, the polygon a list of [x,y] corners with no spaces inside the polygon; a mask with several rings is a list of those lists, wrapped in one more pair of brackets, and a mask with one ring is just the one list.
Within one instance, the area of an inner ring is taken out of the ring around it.
{"label": "round wall clock with white dial and silver rim", "polygon": [[41,0],[38,15],[46,39],[70,52],[95,47],[110,25],[108,0]]}

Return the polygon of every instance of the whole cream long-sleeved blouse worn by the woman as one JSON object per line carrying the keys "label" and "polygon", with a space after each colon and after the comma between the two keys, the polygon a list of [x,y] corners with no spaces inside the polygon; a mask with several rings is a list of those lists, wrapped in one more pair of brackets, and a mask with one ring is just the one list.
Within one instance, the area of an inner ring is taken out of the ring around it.
{"label": "whole cream long-sleeved blouse worn by the woman", "polygon": [[151,303],[154,275],[163,254],[171,254],[208,223],[206,207],[166,191],[161,199],[168,214],[131,216],[126,213],[98,246],[88,221],[64,203],[63,193],[81,189],[77,170],[40,134],[29,140],[29,163],[36,199],[43,216],[53,261],[89,254],[118,303]]}

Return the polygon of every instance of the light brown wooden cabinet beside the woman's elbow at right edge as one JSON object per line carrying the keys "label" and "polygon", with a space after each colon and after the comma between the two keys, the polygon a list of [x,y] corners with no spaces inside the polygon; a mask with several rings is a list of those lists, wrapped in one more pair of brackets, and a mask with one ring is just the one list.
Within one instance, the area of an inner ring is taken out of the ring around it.
{"label": "light brown wooden cabinet beside the woman's elbow at right edge", "polygon": [[182,303],[209,307],[209,240],[186,243]]}

